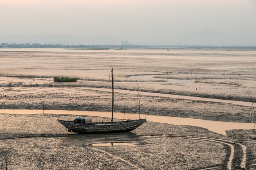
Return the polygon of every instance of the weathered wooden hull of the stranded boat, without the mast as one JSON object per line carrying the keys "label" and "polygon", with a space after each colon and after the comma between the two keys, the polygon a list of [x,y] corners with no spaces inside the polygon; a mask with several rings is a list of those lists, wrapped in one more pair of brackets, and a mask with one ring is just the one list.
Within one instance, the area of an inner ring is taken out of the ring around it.
{"label": "weathered wooden hull of the stranded boat, without the mast", "polygon": [[58,120],[63,126],[74,133],[115,133],[129,132],[141,126],[146,119],[131,120],[126,122],[94,123],[94,124],[74,124],[65,120]]}

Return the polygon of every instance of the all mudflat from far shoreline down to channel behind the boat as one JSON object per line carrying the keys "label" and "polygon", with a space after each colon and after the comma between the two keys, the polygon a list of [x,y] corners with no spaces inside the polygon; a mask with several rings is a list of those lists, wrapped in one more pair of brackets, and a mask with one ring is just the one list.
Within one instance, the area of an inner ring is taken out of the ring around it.
{"label": "all mudflat from far shoreline down to channel behind the boat", "polygon": [[[110,111],[109,92],[84,87],[110,88],[111,68],[115,89],[256,101],[254,50],[4,49],[0,59],[2,109],[41,109],[44,99],[45,109]],[[79,81],[54,83],[53,76]],[[115,93],[115,111],[255,122],[251,106],[139,94]]]}

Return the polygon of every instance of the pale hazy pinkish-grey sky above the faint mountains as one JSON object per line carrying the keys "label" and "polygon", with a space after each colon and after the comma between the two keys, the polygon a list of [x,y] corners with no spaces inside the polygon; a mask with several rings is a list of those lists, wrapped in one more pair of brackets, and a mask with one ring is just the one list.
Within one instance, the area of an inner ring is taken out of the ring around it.
{"label": "pale hazy pinkish-grey sky above the faint mountains", "polygon": [[256,35],[256,0],[0,0],[0,35],[117,35],[161,41],[204,28]]}

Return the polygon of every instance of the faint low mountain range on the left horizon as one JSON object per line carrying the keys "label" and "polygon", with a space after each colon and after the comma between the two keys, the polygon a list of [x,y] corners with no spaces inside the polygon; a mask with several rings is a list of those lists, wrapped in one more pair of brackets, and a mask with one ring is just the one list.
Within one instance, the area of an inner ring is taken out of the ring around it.
{"label": "faint low mountain range on the left horizon", "polygon": [[38,35],[3,35],[0,36],[0,43],[6,42],[9,44],[25,44],[25,43],[39,43],[39,44],[121,44],[120,37],[115,35],[95,35],[95,36],[79,36],[79,35],[60,35],[60,34],[38,34]]}

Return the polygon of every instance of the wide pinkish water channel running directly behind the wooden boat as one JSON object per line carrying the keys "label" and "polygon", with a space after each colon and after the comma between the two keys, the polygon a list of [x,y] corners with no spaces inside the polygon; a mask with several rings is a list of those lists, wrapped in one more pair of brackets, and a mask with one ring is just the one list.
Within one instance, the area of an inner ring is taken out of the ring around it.
{"label": "wide pinkish water channel running directly behind the wooden boat", "polygon": [[[43,110],[12,110],[12,109],[1,109],[0,113],[9,113],[9,114],[36,114],[43,113]],[[73,115],[84,115],[84,116],[100,116],[111,118],[111,112],[100,112],[100,111],[67,111],[67,110],[45,110],[45,113],[53,114],[73,114]],[[137,114],[137,113],[115,113],[114,118],[117,119],[139,119],[146,118],[148,121],[167,123],[167,124],[184,124],[199,126],[210,131],[225,134],[226,130],[230,129],[254,129],[254,123],[239,123],[239,122],[221,122],[221,121],[212,121],[212,120],[201,120],[201,119],[192,119],[192,118],[178,118],[171,116],[156,116],[156,115],[146,115],[146,114]],[[170,130],[171,132],[171,130]]]}

